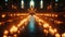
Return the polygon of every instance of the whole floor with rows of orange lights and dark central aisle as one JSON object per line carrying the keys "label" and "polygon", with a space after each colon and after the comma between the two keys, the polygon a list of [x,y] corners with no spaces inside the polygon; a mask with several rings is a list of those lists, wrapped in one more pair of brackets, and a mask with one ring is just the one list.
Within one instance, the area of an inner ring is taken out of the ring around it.
{"label": "whole floor with rows of orange lights and dark central aisle", "polygon": [[1,13],[0,37],[65,37],[65,14]]}

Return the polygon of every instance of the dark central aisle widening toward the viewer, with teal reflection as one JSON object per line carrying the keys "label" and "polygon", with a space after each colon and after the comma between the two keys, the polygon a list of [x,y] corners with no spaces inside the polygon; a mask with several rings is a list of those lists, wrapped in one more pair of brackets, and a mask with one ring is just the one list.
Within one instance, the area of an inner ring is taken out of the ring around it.
{"label": "dark central aisle widening toward the viewer, with teal reflection", "polygon": [[42,32],[42,28],[40,29],[40,26],[35,20],[35,16],[29,17],[29,22],[25,29],[18,35],[18,37],[44,37],[44,34]]}

